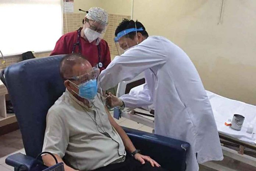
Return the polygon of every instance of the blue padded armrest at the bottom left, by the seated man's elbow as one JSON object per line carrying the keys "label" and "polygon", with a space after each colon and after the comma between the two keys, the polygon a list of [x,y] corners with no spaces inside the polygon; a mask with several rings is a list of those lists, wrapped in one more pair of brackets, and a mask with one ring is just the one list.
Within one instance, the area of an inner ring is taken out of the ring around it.
{"label": "blue padded armrest at the bottom left, by the seated man's elbow", "polygon": [[35,165],[37,165],[37,168],[40,168],[42,170],[47,168],[39,160],[36,160],[35,158],[22,153],[16,153],[8,156],[6,158],[6,164],[13,166],[15,171],[18,171],[19,169],[22,169],[24,171],[31,171],[35,167]]}

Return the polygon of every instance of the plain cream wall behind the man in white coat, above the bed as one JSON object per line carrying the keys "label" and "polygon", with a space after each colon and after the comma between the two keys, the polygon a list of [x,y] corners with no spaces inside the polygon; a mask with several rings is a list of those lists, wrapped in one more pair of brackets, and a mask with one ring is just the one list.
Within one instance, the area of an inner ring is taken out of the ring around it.
{"label": "plain cream wall behind the man in white coat, above the bed", "polygon": [[134,18],[191,58],[207,90],[256,104],[256,0],[134,0]]}

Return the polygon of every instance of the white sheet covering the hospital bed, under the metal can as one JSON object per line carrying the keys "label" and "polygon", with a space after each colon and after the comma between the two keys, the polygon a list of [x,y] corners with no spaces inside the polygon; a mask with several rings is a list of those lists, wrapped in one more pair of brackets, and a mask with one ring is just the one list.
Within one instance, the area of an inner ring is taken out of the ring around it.
{"label": "white sheet covering the hospital bed, under the metal can", "polygon": [[[129,94],[138,95],[138,92],[143,89],[143,85],[132,88]],[[249,124],[254,126],[253,132],[256,132],[256,106],[246,104],[238,100],[228,99],[217,95],[213,92],[206,91],[209,97],[211,107],[213,109],[214,118],[218,128],[218,132],[229,135],[244,142],[256,144],[256,135],[252,138],[252,134],[247,133]],[[154,106],[143,107],[146,110],[154,109]],[[233,118],[234,114],[241,114],[245,117],[241,131],[236,131],[225,126],[225,121]]]}

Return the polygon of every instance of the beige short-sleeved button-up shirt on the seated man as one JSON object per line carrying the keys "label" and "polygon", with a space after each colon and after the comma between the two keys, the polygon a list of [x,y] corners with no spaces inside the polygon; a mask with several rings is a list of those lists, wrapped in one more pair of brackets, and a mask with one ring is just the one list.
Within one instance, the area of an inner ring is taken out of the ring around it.
{"label": "beige short-sleeved button-up shirt on the seated man", "polygon": [[126,155],[102,97],[97,94],[87,107],[68,90],[47,113],[42,151],[58,154],[67,165],[82,171],[122,162]]}

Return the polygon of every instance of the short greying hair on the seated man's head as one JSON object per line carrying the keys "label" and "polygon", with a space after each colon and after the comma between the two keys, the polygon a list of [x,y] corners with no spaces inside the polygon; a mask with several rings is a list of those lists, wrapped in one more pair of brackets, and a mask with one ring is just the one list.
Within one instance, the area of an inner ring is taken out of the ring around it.
{"label": "short greying hair on the seated man's head", "polygon": [[86,63],[88,60],[85,59],[81,54],[71,53],[67,54],[60,62],[60,75],[63,79],[74,76],[73,67],[76,64]]}

